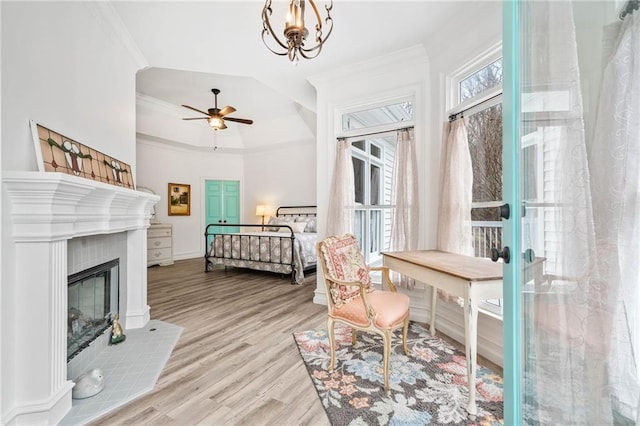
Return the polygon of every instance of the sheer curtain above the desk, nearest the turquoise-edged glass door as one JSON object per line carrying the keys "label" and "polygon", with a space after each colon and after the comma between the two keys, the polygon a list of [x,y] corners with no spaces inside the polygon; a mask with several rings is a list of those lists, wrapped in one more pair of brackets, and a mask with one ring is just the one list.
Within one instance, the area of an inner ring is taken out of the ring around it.
{"label": "sheer curtain above the desk, nearest the turquoise-edged glass door", "polygon": [[440,157],[440,206],[437,249],[473,256],[471,200],[473,170],[467,119],[444,125]]}

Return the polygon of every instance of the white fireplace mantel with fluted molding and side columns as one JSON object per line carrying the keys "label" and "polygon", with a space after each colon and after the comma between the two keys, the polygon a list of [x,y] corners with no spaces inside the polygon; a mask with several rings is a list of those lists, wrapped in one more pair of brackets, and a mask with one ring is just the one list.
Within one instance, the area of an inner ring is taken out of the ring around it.
{"label": "white fireplace mantel with fluted molding and side columns", "polygon": [[4,172],[2,194],[11,224],[3,229],[3,257],[13,262],[3,262],[11,270],[2,271],[0,378],[11,396],[3,397],[0,423],[56,424],[71,408],[73,387],[67,380],[67,241],[126,232],[120,319],[125,328],[143,327],[150,318],[146,229],[160,197],[44,172]]}

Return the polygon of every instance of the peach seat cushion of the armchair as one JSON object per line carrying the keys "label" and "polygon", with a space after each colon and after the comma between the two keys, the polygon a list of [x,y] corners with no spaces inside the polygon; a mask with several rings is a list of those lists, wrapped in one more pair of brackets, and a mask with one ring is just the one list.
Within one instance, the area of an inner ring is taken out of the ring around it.
{"label": "peach seat cushion of the armchair", "polygon": [[[375,290],[367,294],[367,301],[376,311],[375,325],[378,328],[391,328],[401,323],[409,310],[409,296],[391,291]],[[358,296],[340,307],[335,307],[331,313],[334,318],[366,327],[369,324],[367,312]]]}

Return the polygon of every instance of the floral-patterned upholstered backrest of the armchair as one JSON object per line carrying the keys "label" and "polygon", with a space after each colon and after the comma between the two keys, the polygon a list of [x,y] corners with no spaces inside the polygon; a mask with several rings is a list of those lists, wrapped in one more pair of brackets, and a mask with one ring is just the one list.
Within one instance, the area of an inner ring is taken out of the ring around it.
{"label": "floral-patterned upholstered backrest of the armchair", "polygon": [[[369,268],[364,262],[358,241],[352,234],[324,239],[320,243],[320,251],[329,280],[335,278],[342,281],[359,281],[365,285],[367,291],[373,289]],[[360,296],[359,287],[334,283],[330,286],[331,299],[337,307]]]}

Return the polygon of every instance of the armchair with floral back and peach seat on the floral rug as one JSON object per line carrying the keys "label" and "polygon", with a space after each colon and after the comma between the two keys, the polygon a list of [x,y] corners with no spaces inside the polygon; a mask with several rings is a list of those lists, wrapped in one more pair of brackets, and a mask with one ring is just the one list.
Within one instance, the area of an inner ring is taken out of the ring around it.
{"label": "armchair with floral back and peach seat on the floral rug", "polygon": [[[356,344],[357,332],[365,331],[382,336],[384,390],[389,394],[389,358],[393,331],[402,327],[402,345],[405,354],[409,327],[409,297],[398,293],[389,278],[389,269],[368,267],[360,252],[356,238],[351,234],[332,236],[320,241],[318,263],[322,268],[327,292],[329,316],[327,328],[331,360],[329,370],[335,368],[336,348],[333,327],[341,322],[351,327],[351,343]],[[376,290],[371,283],[370,271],[382,271],[383,287]]]}

